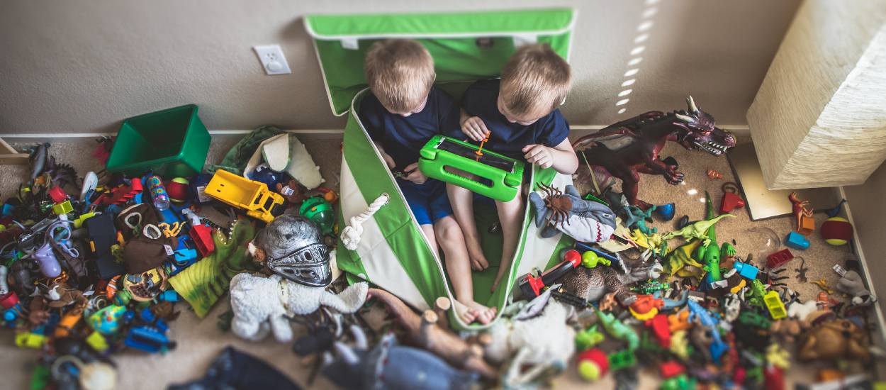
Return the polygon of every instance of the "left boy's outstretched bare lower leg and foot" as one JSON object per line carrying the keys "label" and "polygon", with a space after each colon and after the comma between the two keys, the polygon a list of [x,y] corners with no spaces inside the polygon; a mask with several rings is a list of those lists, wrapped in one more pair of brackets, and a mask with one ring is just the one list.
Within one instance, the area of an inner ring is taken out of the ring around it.
{"label": "left boy's outstretched bare lower leg and foot", "polygon": [[443,253],[446,254],[446,269],[455,292],[455,300],[466,308],[470,308],[470,310],[462,310],[462,314],[462,312],[458,312],[458,305],[456,305],[456,312],[462,317],[465,324],[470,324],[475,319],[480,324],[489,324],[495,317],[495,309],[487,308],[474,300],[474,286],[462,228],[459,227],[455,218],[447,216],[434,222],[433,230],[437,234],[437,241],[443,248]]}

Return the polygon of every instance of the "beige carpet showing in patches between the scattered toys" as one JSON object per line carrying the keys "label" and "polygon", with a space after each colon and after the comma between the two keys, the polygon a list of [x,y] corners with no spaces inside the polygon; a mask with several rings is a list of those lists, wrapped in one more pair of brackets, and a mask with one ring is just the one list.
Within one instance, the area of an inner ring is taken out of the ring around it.
{"label": "beige carpet showing in patches between the scattered toys", "polygon": [[[302,137],[307,145],[307,150],[314,156],[315,162],[321,166],[323,177],[330,186],[338,186],[338,169],[341,161],[340,137],[319,136]],[[221,137],[214,139],[210,149],[210,161],[221,160],[223,152],[237,141],[233,137]],[[82,175],[89,169],[97,170],[100,167],[89,156],[95,144],[90,141],[80,141],[66,144],[54,144],[50,151],[59,161],[70,163]],[[673,155],[679,162],[681,170],[687,174],[686,181],[677,186],[664,182],[661,176],[642,175],[640,198],[653,204],[674,202],[677,208],[677,217],[688,214],[690,219],[702,219],[704,213],[704,191],[710,191],[714,197],[715,205],[719,205],[720,186],[727,180],[732,180],[726,158],[715,158],[703,152],[688,152],[680,146],[669,144],[662,156]],[[712,180],[705,172],[707,169],[715,169],[723,173],[724,180]],[[27,181],[27,167],[6,166],[0,167],[0,195],[11,196],[19,183]],[[693,191],[695,190],[695,191]],[[787,202],[788,200],[785,199]],[[828,208],[833,205],[812,205],[816,208]],[[751,228],[766,227],[774,230],[781,239],[792,229],[791,219],[788,217],[775,218],[762,222],[751,222],[744,210],[735,212],[737,218],[727,219],[717,225],[717,234],[720,242],[735,240],[735,245],[740,254],[753,253],[758,258],[759,250],[765,238],[758,234],[749,233]],[[824,219],[823,214],[816,214],[817,222]],[[656,222],[661,231],[672,230],[672,222]],[[841,261],[848,253],[848,246],[836,247],[825,244],[817,234],[810,236],[812,246],[806,251],[794,251],[801,254],[805,259],[809,271],[806,277],[812,281],[824,278],[830,285],[835,285],[837,276],[831,266],[835,261]],[[787,281],[790,288],[800,292],[804,300],[814,299],[819,288],[809,283],[799,283],[796,272],[799,261],[789,263],[789,271],[782,275],[790,276]],[[843,297],[835,298],[843,300]],[[245,351],[258,355],[268,360],[269,363],[285,372],[301,386],[306,386],[308,369],[303,363],[299,363],[296,355],[291,352],[289,345],[276,343],[271,339],[260,343],[249,343],[237,339],[230,333],[219,331],[216,328],[216,316],[229,308],[226,300],[216,305],[205,319],[198,320],[189,309],[187,304],[176,305],[183,314],[172,324],[171,338],[175,339],[178,347],[167,355],[145,355],[141,353],[124,353],[115,355],[113,358],[118,364],[120,374],[120,388],[162,388],[170,383],[182,382],[202,375],[207,364],[214,356],[227,345],[233,345]],[[14,347],[12,343],[12,331],[0,331],[0,367],[3,367],[3,387],[25,388],[28,383],[31,363],[35,361],[37,354],[32,350],[23,350]],[[812,367],[822,367],[814,365]],[[812,367],[799,367],[795,365],[789,370],[789,378],[808,383],[813,378]],[[657,375],[645,372],[641,375],[641,388],[653,388]],[[574,370],[569,370],[560,378],[556,379],[559,388],[588,388],[581,382]],[[594,388],[612,388],[612,376],[595,384]],[[330,383],[323,378],[317,378],[313,388],[329,388]]]}

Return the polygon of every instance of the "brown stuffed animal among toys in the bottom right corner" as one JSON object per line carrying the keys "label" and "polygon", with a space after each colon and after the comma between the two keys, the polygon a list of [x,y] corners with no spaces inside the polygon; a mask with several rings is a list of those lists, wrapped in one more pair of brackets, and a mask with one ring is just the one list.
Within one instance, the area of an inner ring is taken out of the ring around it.
{"label": "brown stuffed animal among toys in the bottom right corner", "polygon": [[837,319],[820,324],[800,338],[800,360],[862,359],[870,357],[867,336],[858,325]]}

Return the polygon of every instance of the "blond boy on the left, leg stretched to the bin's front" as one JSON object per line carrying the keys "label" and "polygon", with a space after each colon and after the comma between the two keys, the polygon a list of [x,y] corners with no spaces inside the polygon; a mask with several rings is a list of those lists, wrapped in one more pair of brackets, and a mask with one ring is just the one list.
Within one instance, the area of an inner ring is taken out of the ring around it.
{"label": "blond boy on the left, leg stretched to the bin's front", "polygon": [[397,173],[400,191],[431,248],[436,251],[439,244],[443,249],[462,321],[488,324],[495,309],[474,301],[470,258],[446,185],[418,169],[419,150],[432,136],[458,130],[459,107],[433,86],[433,59],[416,41],[374,43],[364,70],[372,93],[361,101],[361,122],[388,168]]}

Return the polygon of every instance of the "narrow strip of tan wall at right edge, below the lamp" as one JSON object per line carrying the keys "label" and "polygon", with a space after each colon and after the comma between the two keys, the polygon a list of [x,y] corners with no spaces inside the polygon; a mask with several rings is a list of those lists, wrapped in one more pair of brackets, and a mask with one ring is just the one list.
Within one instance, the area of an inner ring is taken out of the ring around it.
{"label": "narrow strip of tan wall at right edge, below the lamp", "polygon": [[886,311],[886,164],[878,168],[862,185],[843,187],[852,209],[852,221],[865,253],[867,271],[879,295],[879,304]]}

